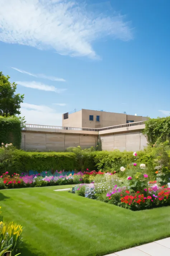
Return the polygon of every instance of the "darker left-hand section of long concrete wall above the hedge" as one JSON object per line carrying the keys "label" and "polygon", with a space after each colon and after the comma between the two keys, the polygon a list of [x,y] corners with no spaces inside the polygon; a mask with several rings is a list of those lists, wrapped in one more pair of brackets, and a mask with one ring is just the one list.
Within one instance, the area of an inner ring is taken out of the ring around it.
{"label": "darker left-hand section of long concrete wall above the hedge", "polygon": [[[75,131],[74,131],[75,132]],[[64,151],[80,145],[82,149],[95,147],[98,135],[78,133],[48,133],[41,131],[22,131],[21,148],[28,151]]]}

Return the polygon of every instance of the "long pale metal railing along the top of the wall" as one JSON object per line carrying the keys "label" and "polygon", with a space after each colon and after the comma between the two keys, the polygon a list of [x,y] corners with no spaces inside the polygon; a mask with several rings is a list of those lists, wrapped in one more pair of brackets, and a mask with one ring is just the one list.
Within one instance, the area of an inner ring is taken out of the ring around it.
{"label": "long pale metal railing along the top of the wall", "polygon": [[23,130],[26,130],[27,128],[38,128],[38,129],[98,131],[99,132],[99,131],[105,131],[105,130],[112,130],[112,129],[118,129],[118,128],[124,128],[124,127],[143,125],[143,124],[144,124],[144,121],[134,122],[134,123],[125,123],[123,125],[114,125],[114,126],[103,127],[103,128],[81,128],[81,127],[64,127],[64,126],[51,126],[51,125],[32,125],[32,124],[26,123]]}

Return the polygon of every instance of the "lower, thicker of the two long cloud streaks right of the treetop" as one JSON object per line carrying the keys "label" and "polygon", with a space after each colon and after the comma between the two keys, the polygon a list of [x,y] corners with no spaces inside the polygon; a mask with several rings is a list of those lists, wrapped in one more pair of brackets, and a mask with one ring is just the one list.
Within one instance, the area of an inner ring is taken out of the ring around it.
{"label": "lower, thicker of the two long cloud streaks right of the treetop", "polygon": [[67,89],[58,89],[55,86],[52,85],[45,85],[42,84],[41,82],[35,82],[35,81],[16,81],[16,84],[22,85],[24,87],[29,87],[32,89],[38,89],[38,90],[43,90],[43,91],[55,91],[55,93],[62,93],[63,91]]}

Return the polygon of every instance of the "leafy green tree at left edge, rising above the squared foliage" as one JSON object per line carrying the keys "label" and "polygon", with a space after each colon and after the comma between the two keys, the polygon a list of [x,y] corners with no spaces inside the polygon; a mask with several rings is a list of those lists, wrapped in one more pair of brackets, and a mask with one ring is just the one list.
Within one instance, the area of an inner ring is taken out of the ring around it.
{"label": "leafy green tree at left edge, rising above the squared foliage", "polygon": [[24,99],[24,94],[15,94],[17,84],[11,84],[9,78],[0,72],[0,116],[6,117],[20,114],[20,104]]}

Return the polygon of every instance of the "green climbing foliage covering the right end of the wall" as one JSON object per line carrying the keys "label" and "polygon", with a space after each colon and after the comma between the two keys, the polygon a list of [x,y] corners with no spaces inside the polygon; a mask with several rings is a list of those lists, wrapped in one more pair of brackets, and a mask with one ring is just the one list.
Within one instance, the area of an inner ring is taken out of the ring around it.
{"label": "green climbing foliage covering the right end of the wall", "polygon": [[145,121],[145,129],[142,133],[151,145],[170,140],[170,116]]}

